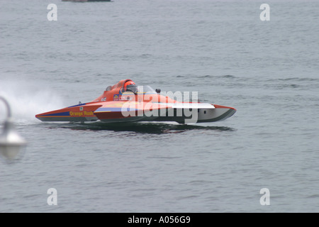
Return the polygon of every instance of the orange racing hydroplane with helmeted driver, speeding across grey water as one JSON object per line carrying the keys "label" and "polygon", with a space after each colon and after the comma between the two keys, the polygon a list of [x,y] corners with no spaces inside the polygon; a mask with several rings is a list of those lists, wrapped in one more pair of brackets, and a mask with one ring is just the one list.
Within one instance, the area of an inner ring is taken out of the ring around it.
{"label": "orange racing hydroplane with helmeted driver, speeding across grey water", "polygon": [[233,107],[198,102],[197,92],[192,92],[191,98],[189,101],[189,92],[161,92],[150,86],[138,86],[131,79],[123,79],[108,86],[101,96],[91,102],[37,114],[35,117],[40,121],[202,123],[223,121],[236,112]]}

